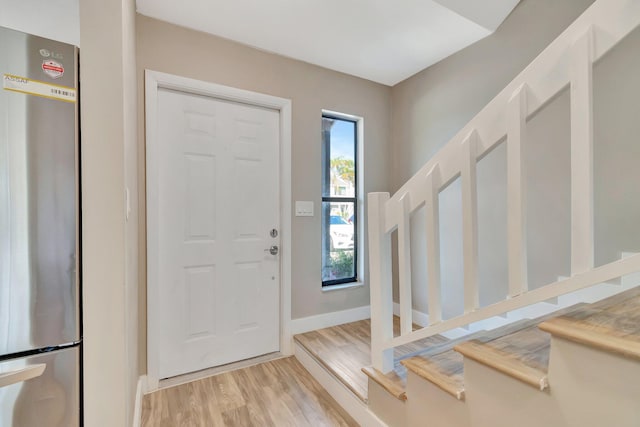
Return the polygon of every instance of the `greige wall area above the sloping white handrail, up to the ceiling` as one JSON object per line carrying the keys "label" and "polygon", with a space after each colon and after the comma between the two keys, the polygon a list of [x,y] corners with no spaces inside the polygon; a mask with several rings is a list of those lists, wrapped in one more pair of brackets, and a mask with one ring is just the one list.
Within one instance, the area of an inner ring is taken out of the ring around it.
{"label": "greige wall area above the sloping white handrail, up to the ceiling", "polygon": [[433,157],[593,1],[521,0],[495,33],[394,86],[394,189]]}

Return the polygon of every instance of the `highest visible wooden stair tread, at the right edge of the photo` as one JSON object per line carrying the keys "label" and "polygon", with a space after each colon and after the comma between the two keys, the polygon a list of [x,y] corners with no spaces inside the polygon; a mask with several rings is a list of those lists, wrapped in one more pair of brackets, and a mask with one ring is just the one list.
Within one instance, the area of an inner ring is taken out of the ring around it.
{"label": "highest visible wooden stair tread, at the right edge of the photo", "polygon": [[640,360],[640,287],[549,319],[540,324],[540,329]]}

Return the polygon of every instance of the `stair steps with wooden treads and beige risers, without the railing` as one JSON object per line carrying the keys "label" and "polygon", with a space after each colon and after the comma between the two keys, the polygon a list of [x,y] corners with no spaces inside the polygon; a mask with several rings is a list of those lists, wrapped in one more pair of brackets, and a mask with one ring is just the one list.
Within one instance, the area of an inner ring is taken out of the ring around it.
{"label": "stair steps with wooden treads and beige risers, without the railing", "polygon": [[369,400],[389,426],[638,426],[640,288],[401,363],[402,393]]}

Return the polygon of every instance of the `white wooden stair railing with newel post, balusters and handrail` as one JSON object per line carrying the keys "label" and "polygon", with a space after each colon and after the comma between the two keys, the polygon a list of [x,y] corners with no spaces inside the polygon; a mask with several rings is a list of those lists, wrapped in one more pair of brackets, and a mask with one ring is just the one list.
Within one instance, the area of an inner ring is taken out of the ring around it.
{"label": "white wooden stair railing with newel post, balusters and handrail", "polygon": [[[640,255],[594,268],[593,63],[640,25],[640,0],[598,0],[500,92],[393,197],[368,195],[373,366],[393,369],[393,348],[540,301],[640,271]],[[527,286],[523,144],[527,118],[564,88],[571,98],[571,277]],[[507,144],[508,296],[478,301],[477,159]],[[464,314],[442,320],[438,194],[461,177]],[[411,214],[425,207],[429,324],[412,331]],[[401,330],[393,336],[391,234],[398,231]]]}

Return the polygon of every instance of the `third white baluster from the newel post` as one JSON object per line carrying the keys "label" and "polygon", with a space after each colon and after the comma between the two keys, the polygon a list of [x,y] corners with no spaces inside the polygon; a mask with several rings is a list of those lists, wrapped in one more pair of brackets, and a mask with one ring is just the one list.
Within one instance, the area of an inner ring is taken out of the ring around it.
{"label": "third white baluster from the newel post", "polygon": [[476,147],[478,132],[474,129],[462,141],[462,236],[464,256],[464,312],[478,308],[478,196]]}

